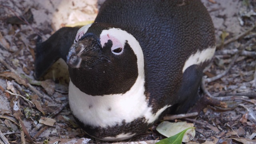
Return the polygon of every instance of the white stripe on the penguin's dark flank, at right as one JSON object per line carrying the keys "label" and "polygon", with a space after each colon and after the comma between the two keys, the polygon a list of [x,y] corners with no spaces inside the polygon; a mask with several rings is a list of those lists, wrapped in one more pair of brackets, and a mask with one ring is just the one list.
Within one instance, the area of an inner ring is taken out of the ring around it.
{"label": "white stripe on the penguin's dark flank, at right", "polygon": [[198,50],[195,54],[191,55],[188,58],[188,60],[186,60],[185,65],[182,69],[182,72],[184,72],[188,67],[194,64],[201,64],[202,62],[211,60],[212,56],[214,55],[215,49],[216,49],[216,46],[206,48],[202,51]]}

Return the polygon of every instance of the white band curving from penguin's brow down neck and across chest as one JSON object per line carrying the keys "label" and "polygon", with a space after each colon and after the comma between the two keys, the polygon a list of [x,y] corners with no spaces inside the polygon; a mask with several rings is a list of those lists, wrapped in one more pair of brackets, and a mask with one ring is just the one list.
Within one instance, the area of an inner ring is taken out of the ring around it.
{"label": "white band curving from penguin's brow down neck and across chest", "polygon": [[137,56],[138,78],[125,94],[105,96],[84,94],[70,81],[69,104],[73,114],[84,124],[103,128],[122,124],[123,120],[129,123],[142,117],[145,117],[148,123],[154,122],[170,105],[164,106],[156,114],[152,114],[152,108],[148,107],[148,101],[144,95],[144,57],[140,44],[131,34],[118,28],[103,30],[100,35],[102,44],[111,38],[105,37],[108,35],[118,40],[122,44],[122,48],[126,40],[128,41]]}

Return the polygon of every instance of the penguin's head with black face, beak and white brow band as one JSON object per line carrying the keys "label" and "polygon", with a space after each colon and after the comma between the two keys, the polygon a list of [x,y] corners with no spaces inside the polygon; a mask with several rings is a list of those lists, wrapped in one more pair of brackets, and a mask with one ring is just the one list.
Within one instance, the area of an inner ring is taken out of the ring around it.
{"label": "penguin's head with black face, beak and white brow band", "polygon": [[92,96],[124,94],[144,77],[140,44],[130,33],[104,23],[78,30],[67,55],[70,80]]}

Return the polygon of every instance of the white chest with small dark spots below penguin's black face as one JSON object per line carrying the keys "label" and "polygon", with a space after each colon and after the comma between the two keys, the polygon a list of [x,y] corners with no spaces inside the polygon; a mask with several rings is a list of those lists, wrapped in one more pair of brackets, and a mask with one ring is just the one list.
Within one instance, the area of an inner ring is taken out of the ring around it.
{"label": "white chest with small dark spots below penguin's black face", "polygon": [[70,108],[81,122],[94,127],[115,126],[132,122],[136,118],[145,117],[148,123],[154,122],[168,107],[152,114],[151,107],[144,96],[144,78],[138,78],[132,88],[125,94],[90,96],[81,92],[70,81]]}

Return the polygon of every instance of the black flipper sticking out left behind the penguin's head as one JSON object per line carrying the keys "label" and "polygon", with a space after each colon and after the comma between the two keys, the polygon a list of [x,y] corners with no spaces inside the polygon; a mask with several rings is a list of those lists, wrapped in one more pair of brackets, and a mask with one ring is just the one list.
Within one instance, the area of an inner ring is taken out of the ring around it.
{"label": "black flipper sticking out left behind the penguin's head", "polygon": [[56,31],[45,42],[36,44],[34,77],[38,80],[59,58],[66,61],[68,50],[76,38],[79,28],[64,27]]}

